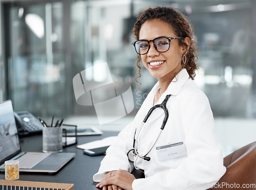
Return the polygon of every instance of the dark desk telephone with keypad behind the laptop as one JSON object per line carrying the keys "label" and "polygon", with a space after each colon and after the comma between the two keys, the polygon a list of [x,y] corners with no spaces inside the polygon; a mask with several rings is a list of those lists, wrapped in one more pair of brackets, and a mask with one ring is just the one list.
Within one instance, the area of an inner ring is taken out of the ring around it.
{"label": "dark desk telephone with keypad behind the laptop", "polygon": [[42,133],[42,124],[28,111],[14,112],[19,136]]}

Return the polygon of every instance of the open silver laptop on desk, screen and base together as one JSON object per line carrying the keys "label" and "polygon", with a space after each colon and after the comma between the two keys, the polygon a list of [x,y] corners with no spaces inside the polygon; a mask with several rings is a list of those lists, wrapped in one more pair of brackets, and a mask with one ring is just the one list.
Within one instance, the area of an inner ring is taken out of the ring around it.
{"label": "open silver laptop on desk, screen and base together", "polygon": [[0,103],[0,171],[6,160],[19,160],[20,172],[57,172],[75,153],[22,152],[13,114],[12,102]]}

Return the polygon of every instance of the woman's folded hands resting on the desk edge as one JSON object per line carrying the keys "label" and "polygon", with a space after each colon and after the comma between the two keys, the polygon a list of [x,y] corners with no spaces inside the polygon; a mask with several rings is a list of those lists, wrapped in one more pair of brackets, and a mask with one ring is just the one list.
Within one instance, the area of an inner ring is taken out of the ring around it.
{"label": "woman's folded hands resting on the desk edge", "polygon": [[[109,189],[116,190],[115,186],[117,186],[117,190],[119,190],[120,188],[125,190],[132,190],[132,183],[134,180],[134,175],[130,174],[125,170],[119,169],[118,171],[112,171],[106,174],[102,178],[102,180],[96,185],[96,187],[104,187],[105,189],[107,189],[108,186]],[[112,187],[110,187],[111,185]],[[103,190],[105,190],[104,188]]]}

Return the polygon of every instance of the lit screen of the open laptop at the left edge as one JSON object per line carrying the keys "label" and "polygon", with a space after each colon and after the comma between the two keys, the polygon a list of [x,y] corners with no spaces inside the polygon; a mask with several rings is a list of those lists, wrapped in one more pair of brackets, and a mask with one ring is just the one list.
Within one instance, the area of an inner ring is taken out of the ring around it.
{"label": "lit screen of the open laptop at the left edge", "polygon": [[0,103],[0,165],[20,151],[11,100]]}

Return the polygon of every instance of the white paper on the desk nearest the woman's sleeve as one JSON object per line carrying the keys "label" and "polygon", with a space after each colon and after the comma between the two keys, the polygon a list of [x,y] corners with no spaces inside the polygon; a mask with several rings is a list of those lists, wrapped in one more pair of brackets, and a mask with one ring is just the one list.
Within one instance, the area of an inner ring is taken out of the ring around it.
{"label": "white paper on the desk nearest the woman's sleeve", "polygon": [[117,139],[117,136],[106,137],[106,138],[103,138],[102,140],[96,140],[96,141],[80,144],[80,145],[77,145],[76,147],[78,149],[83,149],[83,150],[95,149],[97,147],[109,146],[113,144],[116,141],[116,139]]}

